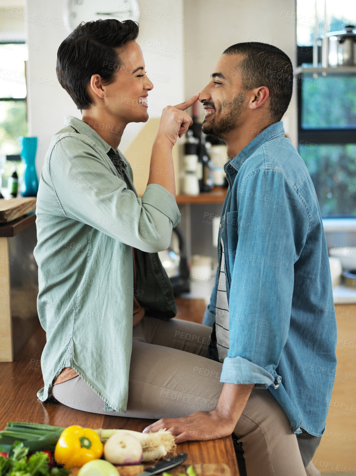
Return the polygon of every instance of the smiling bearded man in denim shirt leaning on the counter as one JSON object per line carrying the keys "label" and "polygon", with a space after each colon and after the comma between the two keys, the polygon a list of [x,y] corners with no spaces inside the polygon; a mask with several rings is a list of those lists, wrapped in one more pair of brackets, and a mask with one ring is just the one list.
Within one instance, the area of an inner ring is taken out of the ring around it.
{"label": "smiling bearded man in denim shirt leaning on the counter", "polygon": [[[212,326],[209,356],[222,362],[218,406],[236,425],[249,476],[305,475],[325,431],[336,372],[318,199],[280,120],[292,87],[283,51],[239,43],[223,52],[199,96],[202,131],[223,139],[230,157],[219,265],[203,324]],[[205,439],[206,421],[196,412],[146,429],[171,428],[177,441]],[[222,427],[221,420],[214,431]]]}

